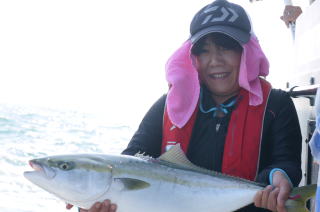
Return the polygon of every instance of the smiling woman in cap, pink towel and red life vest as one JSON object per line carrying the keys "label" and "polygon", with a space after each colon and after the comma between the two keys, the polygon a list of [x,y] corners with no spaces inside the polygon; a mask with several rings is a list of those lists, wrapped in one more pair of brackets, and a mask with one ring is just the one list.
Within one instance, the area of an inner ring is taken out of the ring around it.
{"label": "smiling woman in cap, pink towel and red life vest", "polygon": [[[147,112],[123,154],[158,157],[180,144],[198,166],[268,185],[238,211],[286,211],[301,180],[302,137],[291,98],[264,79],[268,71],[241,6],[216,0],[203,7],[190,38],[166,64],[168,93]],[[80,211],[115,211],[111,201]]]}

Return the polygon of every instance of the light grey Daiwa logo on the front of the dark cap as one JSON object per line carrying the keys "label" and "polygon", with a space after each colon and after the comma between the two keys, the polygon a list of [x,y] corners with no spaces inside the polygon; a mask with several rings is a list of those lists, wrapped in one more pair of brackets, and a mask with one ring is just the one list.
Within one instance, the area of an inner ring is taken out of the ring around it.
{"label": "light grey Daiwa logo on the front of the dark cap", "polygon": [[[210,6],[210,5],[209,5]],[[205,9],[203,11],[203,13],[210,13],[216,10],[220,10],[221,11],[221,16],[218,17],[212,17],[213,14],[209,14],[205,17],[205,19],[203,20],[203,22],[201,23],[201,25],[208,23],[208,21],[210,22],[216,22],[216,21],[225,21],[226,19],[228,19],[228,22],[234,22],[238,19],[239,15],[238,13],[236,13],[236,11],[234,11],[232,8],[224,8],[224,7],[218,7],[218,6],[214,6],[214,7],[209,7],[207,9]],[[231,15],[231,17],[230,17]]]}

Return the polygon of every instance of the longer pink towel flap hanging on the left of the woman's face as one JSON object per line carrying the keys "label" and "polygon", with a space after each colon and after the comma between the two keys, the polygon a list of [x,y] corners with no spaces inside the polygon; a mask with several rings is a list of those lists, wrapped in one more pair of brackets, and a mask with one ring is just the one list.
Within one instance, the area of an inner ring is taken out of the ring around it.
{"label": "longer pink towel flap hanging on the left of the woman's face", "polygon": [[168,116],[179,128],[188,122],[200,94],[198,72],[191,60],[191,46],[190,40],[184,42],[166,64],[166,79],[170,86],[166,101]]}

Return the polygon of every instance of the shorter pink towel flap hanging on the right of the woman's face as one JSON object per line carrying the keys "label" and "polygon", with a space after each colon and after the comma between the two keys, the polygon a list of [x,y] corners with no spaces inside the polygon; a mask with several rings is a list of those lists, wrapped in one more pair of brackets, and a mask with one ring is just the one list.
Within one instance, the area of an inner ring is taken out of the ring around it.
{"label": "shorter pink towel flap hanging on the right of the woman's face", "polygon": [[240,63],[239,85],[249,91],[249,105],[257,106],[263,101],[259,76],[269,74],[269,62],[264,55],[258,39],[252,35],[243,45]]}

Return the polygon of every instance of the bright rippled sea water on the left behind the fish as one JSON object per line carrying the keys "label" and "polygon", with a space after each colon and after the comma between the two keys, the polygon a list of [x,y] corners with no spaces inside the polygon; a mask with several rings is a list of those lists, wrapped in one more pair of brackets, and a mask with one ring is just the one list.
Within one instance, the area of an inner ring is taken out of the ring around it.
{"label": "bright rippled sea water on the left behind the fish", "polygon": [[0,211],[76,211],[66,210],[63,201],[23,177],[31,170],[28,160],[65,153],[120,153],[134,131],[97,114],[0,104]]}

